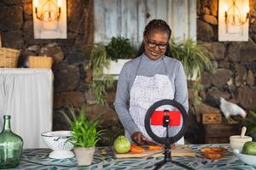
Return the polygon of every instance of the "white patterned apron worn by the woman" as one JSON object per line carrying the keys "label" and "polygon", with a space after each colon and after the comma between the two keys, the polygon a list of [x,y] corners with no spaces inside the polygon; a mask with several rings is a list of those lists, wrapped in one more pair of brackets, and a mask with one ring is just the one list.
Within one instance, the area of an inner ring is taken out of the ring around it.
{"label": "white patterned apron worn by the woman", "polygon": [[[141,59],[142,60],[142,59]],[[141,64],[140,60],[140,64]],[[164,62],[164,60],[162,59]],[[139,65],[140,65],[139,64]],[[137,67],[137,71],[139,69]],[[164,68],[166,70],[166,66]],[[131,86],[130,93],[130,114],[133,121],[137,124],[139,130],[143,135],[152,140],[145,129],[144,119],[146,113],[151,105],[161,99],[174,99],[174,91],[172,88],[172,83],[168,76],[155,74],[153,77],[137,76]],[[162,105],[158,111],[172,110],[171,105]],[[181,122],[182,123],[182,122]],[[162,126],[151,126],[152,131],[160,137],[166,136],[166,127]],[[170,136],[176,135],[181,127],[170,127]],[[126,138],[131,140],[131,136],[125,131]],[[184,144],[183,138],[177,141],[177,144]]]}

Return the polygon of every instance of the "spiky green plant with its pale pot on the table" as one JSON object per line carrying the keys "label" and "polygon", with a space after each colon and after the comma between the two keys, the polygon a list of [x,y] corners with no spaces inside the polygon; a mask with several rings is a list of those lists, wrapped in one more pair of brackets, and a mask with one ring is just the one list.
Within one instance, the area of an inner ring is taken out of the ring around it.
{"label": "spiky green plant with its pale pot on the table", "polygon": [[74,145],[73,150],[78,165],[90,165],[95,152],[96,143],[101,139],[102,135],[102,130],[98,131],[96,129],[99,122],[97,118],[93,120],[88,119],[84,106],[79,110],[79,116],[76,116],[76,111],[73,106],[68,107],[68,112],[71,114],[72,118],[69,118],[64,111],[61,111],[72,131],[72,137],[68,139],[68,141]]}

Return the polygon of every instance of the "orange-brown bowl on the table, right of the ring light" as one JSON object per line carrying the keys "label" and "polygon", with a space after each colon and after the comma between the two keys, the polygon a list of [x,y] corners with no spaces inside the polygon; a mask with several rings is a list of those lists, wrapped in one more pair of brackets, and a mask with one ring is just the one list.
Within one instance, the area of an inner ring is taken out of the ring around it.
{"label": "orange-brown bowl on the table, right of the ring light", "polygon": [[227,150],[221,147],[201,148],[202,155],[210,160],[218,160],[226,154]]}

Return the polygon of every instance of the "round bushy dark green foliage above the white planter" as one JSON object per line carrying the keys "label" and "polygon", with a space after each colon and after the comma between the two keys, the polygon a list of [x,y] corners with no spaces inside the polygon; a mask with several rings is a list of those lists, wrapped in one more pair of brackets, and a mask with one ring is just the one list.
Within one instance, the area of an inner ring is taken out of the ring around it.
{"label": "round bushy dark green foliage above the white planter", "polygon": [[131,59],[137,52],[137,48],[132,46],[130,40],[125,37],[112,37],[106,50],[108,58],[112,60]]}

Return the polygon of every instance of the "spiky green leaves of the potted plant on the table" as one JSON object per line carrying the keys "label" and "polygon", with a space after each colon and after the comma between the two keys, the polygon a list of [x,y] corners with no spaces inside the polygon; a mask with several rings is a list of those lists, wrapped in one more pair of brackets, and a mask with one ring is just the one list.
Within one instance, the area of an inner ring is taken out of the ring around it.
{"label": "spiky green leaves of the potted plant on the table", "polygon": [[99,124],[97,118],[89,120],[84,106],[79,110],[79,116],[76,116],[73,106],[68,106],[68,112],[72,118],[69,118],[64,111],[61,111],[72,131],[72,137],[68,141],[74,144],[75,147],[86,148],[95,146],[99,139],[101,139],[103,132],[102,130],[96,130]]}

